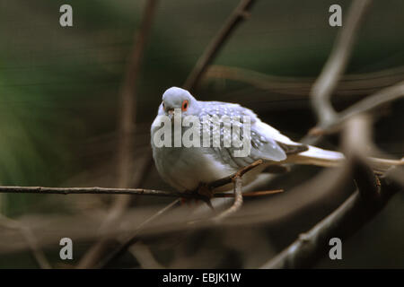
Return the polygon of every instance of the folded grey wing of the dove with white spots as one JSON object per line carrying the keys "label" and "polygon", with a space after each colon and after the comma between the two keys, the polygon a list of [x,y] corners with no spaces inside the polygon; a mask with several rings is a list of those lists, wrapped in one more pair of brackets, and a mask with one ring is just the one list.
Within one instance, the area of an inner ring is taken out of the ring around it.
{"label": "folded grey wing of the dove with white spots", "polygon": [[[284,161],[286,159],[286,152],[284,148],[277,143],[277,140],[271,137],[271,135],[266,135],[266,133],[259,130],[259,125],[257,124],[262,124],[262,122],[252,110],[243,108],[239,104],[224,103],[220,101],[202,101],[201,107],[202,109],[199,115],[201,123],[203,124],[204,117],[208,118],[211,123],[208,127],[210,146],[212,146],[214,136],[217,135],[217,133],[220,133],[220,147],[214,146],[209,149],[214,151],[214,155],[219,161],[229,164],[233,168],[241,168],[259,159],[267,161]],[[233,141],[231,142],[232,144],[230,147],[224,146],[224,139],[226,136],[234,136],[234,134],[227,135],[227,133],[224,133],[223,124],[221,124],[220,127],[215,128],[213,123],[215,116],[219,118],[224,116],[230,117],[232,132],[234,126],[239,127],[239,138],[245,138],[244,141],[250,144],[250,153],[247,156],[235,156],[235,152],[241,151],[243,147],[235,147]],[[240,117],[240,120],[233,120],[233,117]],[[250,135],[247,135],[248,133],[243,133],[244,117],[250,117]],[[206,128],[206,125],[201,125],[201,128]]]}

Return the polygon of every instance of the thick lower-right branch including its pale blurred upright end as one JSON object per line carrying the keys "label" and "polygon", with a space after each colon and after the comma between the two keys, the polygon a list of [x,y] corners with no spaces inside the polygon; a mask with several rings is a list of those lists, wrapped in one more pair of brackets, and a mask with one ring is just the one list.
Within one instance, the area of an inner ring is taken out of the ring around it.
{"label": "thick lower-right branch including its pale blurred upright end", "polygon": [[357,192],[262,268],[311,267],[318,259],[327,255],[329,239],[347,239],[365,223],[370,222],[391,196],[402,188],[384,178],[381,184],[364,161],[364,143],[370,139],[368,128],[364,117],[353,118],[347,123],[345,145],[349,151],[347,158],[351,163],[351,168],[347,169],[353,172]]}

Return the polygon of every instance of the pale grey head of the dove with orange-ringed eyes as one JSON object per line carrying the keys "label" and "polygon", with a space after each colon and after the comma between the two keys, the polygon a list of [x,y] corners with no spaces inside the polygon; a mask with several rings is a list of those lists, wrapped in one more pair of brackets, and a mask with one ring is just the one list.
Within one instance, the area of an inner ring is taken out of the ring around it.
{"label": "pale grey head of the dove with orange-ringed eyes", "polygon": [[197,116],[199,112],[199,103],[189,91],[171,87],[162,94],[162,104],[160,105],[159,115],[172,117],[174,110],[180,110],[181,116]]}

